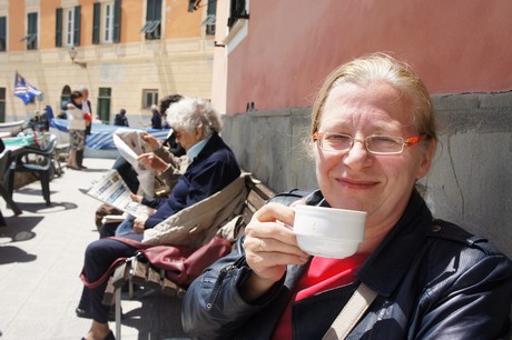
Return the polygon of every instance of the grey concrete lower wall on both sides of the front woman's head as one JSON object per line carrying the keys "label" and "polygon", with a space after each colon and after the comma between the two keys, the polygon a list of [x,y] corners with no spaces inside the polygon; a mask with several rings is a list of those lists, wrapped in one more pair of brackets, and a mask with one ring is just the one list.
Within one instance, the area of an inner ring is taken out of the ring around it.
{"label": "grey concrete lower wall on both sides of the front woman's head", "polygon": [[[488,237],[512,257],[512,92],[434,96],[440,146],[426,184],[435,217]],[[314,189],[304,148],[311,108],[224,117],[242,167],[276,191]]]}

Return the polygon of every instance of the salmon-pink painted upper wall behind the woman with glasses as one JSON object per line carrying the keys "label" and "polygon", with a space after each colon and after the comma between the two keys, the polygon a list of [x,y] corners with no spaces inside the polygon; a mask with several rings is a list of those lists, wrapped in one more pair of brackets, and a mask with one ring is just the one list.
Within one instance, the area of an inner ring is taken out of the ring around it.
{"label": "salmon-pink painted upper wall behind the woman with glasses", "polygon": [[406,60],[433,94],[512,89],[512,1],[253,0],[249,14],[220,62],[227,113],[311,106],[332,69],[375,51]]}

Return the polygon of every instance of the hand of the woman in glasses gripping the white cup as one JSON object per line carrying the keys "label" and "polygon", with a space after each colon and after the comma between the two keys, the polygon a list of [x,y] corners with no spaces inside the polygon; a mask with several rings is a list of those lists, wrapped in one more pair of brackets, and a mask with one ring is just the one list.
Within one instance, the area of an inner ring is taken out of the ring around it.
{"label": "hand of the woman in glasses gripping the white cup", "polygon": [[278,203],[268,203],[256,211],[245,228],[244,249],[253,274],[242,287],[248,302],[263,296],[286,272],[287,264],[303,264],[308,254],[298,248],[293,230],[294,211]]}

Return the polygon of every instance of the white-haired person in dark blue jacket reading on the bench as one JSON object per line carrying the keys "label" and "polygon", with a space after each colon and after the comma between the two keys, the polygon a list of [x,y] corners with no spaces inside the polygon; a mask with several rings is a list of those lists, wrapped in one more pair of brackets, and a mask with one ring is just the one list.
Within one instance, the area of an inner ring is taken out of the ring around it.
{"label": "white-haired person in dark blue jacket reading on the bench", "polygon": [[[190,164],[169,198],[151,202],[156,212],[147,219],[132,220],[134,232],[125,238],[141,241],[145,229],[223,190],[242,173],[235,154],[219,136],[220,114],[209,101],[184,98],[169,107],[168,120],[175,128],[177,142],[187,151]],[[89,282],[96,281],[116,259],[134,256],[136,251],[135,247],[116,239],[96,240],[87,247],[82,274]],[[76,312],[78,317],[93,320],[85,339],[114,339],[108,326],[110,307],[101,303],[106,286],[107,282],[96,289],[83,287]]]}

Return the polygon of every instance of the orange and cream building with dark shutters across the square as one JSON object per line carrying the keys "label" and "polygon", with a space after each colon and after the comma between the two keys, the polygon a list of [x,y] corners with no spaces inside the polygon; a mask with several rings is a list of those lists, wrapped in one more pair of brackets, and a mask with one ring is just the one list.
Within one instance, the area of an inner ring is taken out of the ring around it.
{"label": "orange and cream building with dark shutters across the square", "polygon": [[[85,86],[95,117],[149,126],[168,94],[210,98],[216,1],[0,0],[0,121],[56,114]],[[14,77],[43,94],[14,97]]]}

